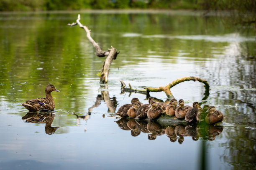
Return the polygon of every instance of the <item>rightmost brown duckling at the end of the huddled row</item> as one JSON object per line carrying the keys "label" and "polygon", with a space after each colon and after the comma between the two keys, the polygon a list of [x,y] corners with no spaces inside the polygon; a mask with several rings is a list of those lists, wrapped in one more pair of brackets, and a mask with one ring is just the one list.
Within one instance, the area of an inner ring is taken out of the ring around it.
{"label": "rightmost brown duckling at the end of the huddled row", "polygon": [[209,107],[209,113],[205,117],[205,122],[207,124],[213,124],[216,122],[222,122],[223,120],[223,114],[219,110],[216,110],[214,106]]}

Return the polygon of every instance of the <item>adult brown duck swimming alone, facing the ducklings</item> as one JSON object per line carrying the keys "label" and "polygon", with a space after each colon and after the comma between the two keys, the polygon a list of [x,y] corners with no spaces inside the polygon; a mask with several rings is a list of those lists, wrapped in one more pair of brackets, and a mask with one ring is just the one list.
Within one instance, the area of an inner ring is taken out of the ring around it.
{"label": "adult brown duck swimming alone, facing the ducklings", "polygon": [[60,92],[57,90],[54,85],[47,85],[45,88],[45,98],[37,98],[37,99],[32,99],[32,100],[27,100],[25,103],[22,105],[26,107],[30,112],[36,112],[38,110],[54,110],[55,104],[54,100],[51,96],[51,92]]}

